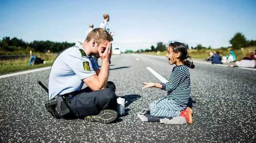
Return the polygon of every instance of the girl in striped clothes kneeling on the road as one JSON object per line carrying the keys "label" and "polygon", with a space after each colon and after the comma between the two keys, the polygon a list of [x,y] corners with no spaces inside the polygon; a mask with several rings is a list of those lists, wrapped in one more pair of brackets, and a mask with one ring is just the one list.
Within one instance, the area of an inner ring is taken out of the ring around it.
{"label": "girl in striped clothes kneeling on the road", "polygon": [[[167,48],[166,57],[170,65],[175,64],[167,83],[143,83],[142,88],[161,88],[167,91],[167,96],[160,98],[149,105],[150,115],[152,117],[179,117],[186,118],[188,124],[193,124],[192,109],[187,107],[191,92],[189,68],[195,68],[191,62],[191,56],[187,53],[185,44],[180,42],[170,43]],[[151,117],[150,117],[151,116]]]}

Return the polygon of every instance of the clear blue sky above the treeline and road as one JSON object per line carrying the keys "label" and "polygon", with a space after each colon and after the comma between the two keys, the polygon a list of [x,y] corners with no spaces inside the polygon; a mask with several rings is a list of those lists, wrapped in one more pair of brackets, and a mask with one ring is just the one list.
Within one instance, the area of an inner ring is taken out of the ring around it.
{"label": "clear blue sky above the treeline and road", "polygon": [[219,48],[237,32],[256,40],[255,7],[256,0],[0,0],[0,38],[84,41],[88,25],[108,13],[122,50],[169,40]]}

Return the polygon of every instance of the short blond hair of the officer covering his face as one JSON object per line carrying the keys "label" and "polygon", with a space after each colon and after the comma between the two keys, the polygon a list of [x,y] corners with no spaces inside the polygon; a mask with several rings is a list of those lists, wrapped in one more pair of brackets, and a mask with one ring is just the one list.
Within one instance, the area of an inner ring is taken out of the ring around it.
{"label": "short blond hair of the officer covering his face", "polygon": [[98,44],[102,44],[106,40],[113,41],[112,36],[103,28],[96,28],[89,32],[85,40],[89,42],[92,39],[95,39]]}

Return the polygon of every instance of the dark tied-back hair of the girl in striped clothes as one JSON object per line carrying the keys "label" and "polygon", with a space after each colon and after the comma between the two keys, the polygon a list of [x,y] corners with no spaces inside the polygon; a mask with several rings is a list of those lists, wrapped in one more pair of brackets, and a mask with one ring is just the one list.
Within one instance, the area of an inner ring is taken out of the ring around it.
{"label": "dark tied-back hair of the girl in striped clothes", "polygon": [[191,69],[195,68],[191,56],[187,53],[187,46],[180,42],[169,42],[168,47],[172,48],[175,53],[180,52],[180,61]]}

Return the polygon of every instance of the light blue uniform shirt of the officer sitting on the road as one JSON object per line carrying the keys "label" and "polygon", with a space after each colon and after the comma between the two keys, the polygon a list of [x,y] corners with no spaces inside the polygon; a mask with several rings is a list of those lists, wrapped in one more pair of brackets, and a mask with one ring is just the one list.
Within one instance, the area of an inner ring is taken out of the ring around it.
{"label": "light blue uniform shirt of the officer sitting on the road", "polygon": [[63,51],[53,63],[49,77],[49,99],[58,94],[80,90],[84,84],[83,79],[96,74],[97,69],[99,67],[95,60],[77,42]]}

